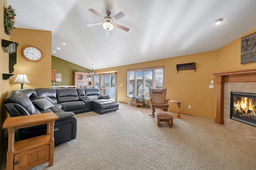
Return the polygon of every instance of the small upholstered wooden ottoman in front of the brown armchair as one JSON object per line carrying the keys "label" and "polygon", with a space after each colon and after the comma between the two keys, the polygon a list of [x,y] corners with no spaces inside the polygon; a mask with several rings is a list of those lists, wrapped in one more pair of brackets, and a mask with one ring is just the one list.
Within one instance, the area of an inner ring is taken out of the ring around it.
{"label": "small upholstered wooden ottoman in front of the brown armchair", "polygon": [[160,123],[167,123],[169,127],[172,128],[173,118],[173,115],[168,111],[155,112],[155,120],[157,122],[158,127],[160,127]]}

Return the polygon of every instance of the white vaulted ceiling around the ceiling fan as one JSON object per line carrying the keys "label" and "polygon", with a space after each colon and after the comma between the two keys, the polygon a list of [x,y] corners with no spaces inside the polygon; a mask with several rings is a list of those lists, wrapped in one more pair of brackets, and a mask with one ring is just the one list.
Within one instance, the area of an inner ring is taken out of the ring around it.
{"label": "white vaulted ceiling around the ceiling fan", "polygon": [[[52,31],[52,55],[94,69],[212,51],[256,27],[256,0],[8,0],[15,27]],[[106,35],[89,11],[125,16]],[[223,18],[220,25],[214,21]],[[66,45],[62,45],[66,43]],[[57,49],[60,48],[60,49]]]}

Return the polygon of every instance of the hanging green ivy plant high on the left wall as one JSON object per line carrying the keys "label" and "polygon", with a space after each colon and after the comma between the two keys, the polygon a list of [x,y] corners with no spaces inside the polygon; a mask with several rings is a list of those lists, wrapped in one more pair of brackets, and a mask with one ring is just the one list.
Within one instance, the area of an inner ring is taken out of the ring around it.
{"label": "hanging green ivy plant high on the left wall", "polygon": [[8,5],[8,8],[4,8],[4,31],[6,35],[12,34],[12,29],[15,29],[14,22],[16,16],[16,9]]}

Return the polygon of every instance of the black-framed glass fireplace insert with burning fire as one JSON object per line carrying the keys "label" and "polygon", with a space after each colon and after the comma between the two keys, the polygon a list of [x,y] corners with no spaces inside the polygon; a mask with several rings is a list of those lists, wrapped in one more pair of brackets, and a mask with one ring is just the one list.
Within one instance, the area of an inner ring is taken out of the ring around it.
{"label": "black-framed glass fireplace insert with burning fire", "polygon": [[256,94],[231,92],[230,119],[256,127]]}

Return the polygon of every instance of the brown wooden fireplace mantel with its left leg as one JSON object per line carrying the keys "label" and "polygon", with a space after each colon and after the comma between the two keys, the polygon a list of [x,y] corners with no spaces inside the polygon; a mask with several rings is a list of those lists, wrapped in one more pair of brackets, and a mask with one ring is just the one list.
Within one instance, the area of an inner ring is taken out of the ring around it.
{"label": "brown wooden fireplace mantel with its left leg", "polygon": [[216,118],[215,122],[224,124],[224,83],[256,82],[256,68],[214,73],[216,76]]}

